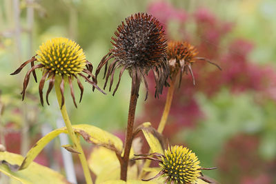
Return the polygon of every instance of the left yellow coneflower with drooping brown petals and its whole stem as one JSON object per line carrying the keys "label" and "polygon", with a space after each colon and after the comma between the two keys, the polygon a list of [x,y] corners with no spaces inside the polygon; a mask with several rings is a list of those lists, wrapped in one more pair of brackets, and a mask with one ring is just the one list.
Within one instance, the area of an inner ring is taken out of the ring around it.
{"label": "left yellow coneflower with drooping brown petals and its whole stem", "polygon": [[[34,65],[34,61],[38,61],[39,64]],[[23,90],[22,100],[24,99],[26,88],[28,86],[28,82],[30,79],[30,74],[32,72],[34,76],[34,80],[37,81],[37,76],[35,74],[35,70],[37,68],[41,68],[43,72],[43,76],[41,81],[39,82],[39,96],[41,105],[43,105],[43,95],[42,90],[46,79],[49,80],[49,86],[46,94],[46,100],[48,102],[48,94],[52,90],[53,86],[55,85],[55,90],[57,94],[57,101],[59,102],[59,107],[61,109],[61,114],[63,116],[63,120],[66,123],[67,130],[69,132],[70,138],[72,139],[73,145],[69,146],[68,150],[74,150],[72,152],[77,152],[79,154],[79,159],[81,160],[81,165],[83,167],[83,172],[86,176],[86,182],[92,183],[90,172],[88,169],[88,164],[86,162],[86,157],[83,154],[83,150],[75,135],[74,131],[72,130],[72,125],[70,123],[70,119],[68,113],[66,111],[65,100],[64,100],[64,81],[68,81],[70,85],[71,96],[74,101],[74,104],[77,108],[77,103],[75,101],[75,94],[72,88],[72,78],[77,79],[77,83],[79,85],[79,89],[81,90],[81,97],[83,94],[83,85],[81,81],[77,78],[77,75],[83,77],[90,83],[93,88],[97,88],[99,91],[99,87],[97,86],[97,81],[95,76],[91,73],[92,72],[92,64],[86,60],[86,56],[83,53],[83,50],[80,48],[75,41],[66,39],[66,38],[55,38],[43,43],[39,50],[37,50],[37,54],[32,57],[32,59],[23,63],[15,72],[12,73],[18,74],[21,72],[23,67],[25,67],[28,63],[31,63],[32,68],[28,70],[24,82],[23,82]],[[85,76],[81,72],[88,74]],[[92,80],[89,79],[92,77]],[[103,92],[103,91],[101,91]],[[104,93],[104,92],[103,92]],[[81,98],[79,102],[81,101]]]}

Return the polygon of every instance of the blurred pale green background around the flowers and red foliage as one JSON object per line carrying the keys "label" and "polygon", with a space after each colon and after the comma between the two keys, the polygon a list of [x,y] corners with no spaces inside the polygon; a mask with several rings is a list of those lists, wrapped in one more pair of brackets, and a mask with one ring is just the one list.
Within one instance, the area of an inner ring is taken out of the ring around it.
{"label": "blurred pale green background around the flowers and red foliage", "polygon": [[[77,41],[86,53],[88,61],[96,68],[101,58],[111,48],[110,38],[114,35],[117,25],[130,14],[146,12],[149,4],[155,2],[157,1],[0,0],[0,90],[1,101],[6,106],[0,119],[1,143],[3,143],[3,134],[7,125],[12,123],[12,128],[9,127],[9,130],[25,131],[21,134],[20,144],[21,153],[25,154],[32,139],[40,134],[43,123],[50,123],[53,128],[56,126],[55,119],[60,114],[54,93],[50,94],[50,106],[41,107],[38,84],[31,78],[28,95],[22,102],[20,92],[26,69],[20,76],[10,76],[20,63],[34,55],[43,41],[53,37],[68,37]],[[275,68],[275,0],[166,2],[188,13],[193,13],[199,7],[208,8],[221,21],[233,23],[233,30],[228,34],[226,41],[236,37],[250,40],[254,45],[249,54],[250,61],[258,65],[269,64],[270,68]],[[31,10],[34,10],[34,17]],[[178,35],[175,32],[177,25],[172,22],[168,27],[168,34],[177,38]],[[187,28],[187,31],[194,37],[198,37],[197,33],[193,32],[193,28]],[[219,47],[222,52],[228,49],[224,44]],[[204,82],[208,83],[208,81]],[[110,92],[107,95],[97,91],[92,92],[90,85],[85,83],[83,85],[85,88],[83,101],[77,109],[73,107],[70,95],[66,96],[66,105],[70,111],[72,123],[88,123],[124,136],[130,95],[130,77],[127,72],[123,75],[115,96]],[[99,80],[99,86],[103,86],[103,80]],[[77,88],[75,89],[78,98]],[[144,96],[144,88],[140,91],[140,96]],[[66,92],[68,93],[69,90]],[[253,97],[254,92],[233,94],[228,88],[224,88],[212,98],[208,98],[204,92],[198,92],[196,96],[201,110],[207,114],[206,117],[200,120],[195,128],[184,128],[177,135],[172,136],[171,143],[185,142],[196,152],[204,167],[213,167],[217,165],[219,155],[227,150],[226,143],[232,137],[237,134],[251,134],[259,138],[257,155],[262,161],[268,161],[274,165],[271,166],[273,168],[271,170],[275,171],[275,101],[266,100],[257,103]],[[143,99],[144,97],[138,101],[137,116],[140,117],[138,123],[148,121],[144,116],[144,105],[147,102]],[[25,139],[29,139],[27,143]],[[6,141],[6,145],[8,143]],[[219,174],[219,171],[206,174],[217,181],[221,181],[219,177],[224,176]],[[239,182],[246,183],[246,181],[250,180],[243,178]],[[270,182],[273,183],[273,179],[268,181]]]}

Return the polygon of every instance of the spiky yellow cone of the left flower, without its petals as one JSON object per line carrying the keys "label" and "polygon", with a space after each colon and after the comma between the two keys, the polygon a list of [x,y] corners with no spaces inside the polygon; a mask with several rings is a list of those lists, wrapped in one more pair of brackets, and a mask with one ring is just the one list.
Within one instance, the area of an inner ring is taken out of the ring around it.
{"label": "spiky yellow cone of the left flower, without its petals", "polygon": [[71,76],[81,72],[86,66],[86,55],[79,44],[63,37],[42,43],[37,50],[37,61],[60,76]]}

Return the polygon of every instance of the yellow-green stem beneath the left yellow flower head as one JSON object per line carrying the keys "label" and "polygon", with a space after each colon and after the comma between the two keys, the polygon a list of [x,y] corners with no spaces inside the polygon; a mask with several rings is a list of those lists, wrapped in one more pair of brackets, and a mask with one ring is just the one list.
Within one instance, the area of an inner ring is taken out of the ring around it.
{"label": "yellow-green stem beneath the left yellow flower head", "polygon": [[[57,94],[57,101],[59,102],[59,108],[61,108],[61,90],[60,90],[60,84],[61,84],[61,79],[57,76],[55,79],[55,90]],[[78,154],[79,160],[81,161],[81,166],[83,168],[83,174],[86,178],[86,183],[92,184],[92,178],[90,176],[90,171],[88,168],[88,163],[86,161],[86,156],[83,153],[81,143],[78,141],[77,136],[75,135],[74,130],[72,129],[72,125],[66,110],[66,105],[64,105],[61,108],[61,114],[64,120],[64,123],[66,124],[67,130],[68,130],[68,135],[70,136],[70,139],[72,140],[73,147],[77,152],[80,152]]]}

